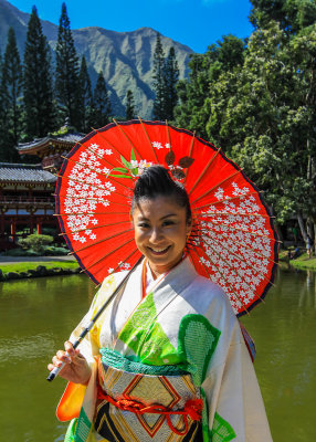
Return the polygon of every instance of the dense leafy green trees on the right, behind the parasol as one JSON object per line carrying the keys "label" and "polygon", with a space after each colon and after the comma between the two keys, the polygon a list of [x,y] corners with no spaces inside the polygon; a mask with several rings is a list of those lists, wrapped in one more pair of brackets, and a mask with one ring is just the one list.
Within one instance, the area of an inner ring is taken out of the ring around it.
{"label": "dense leafy green trees on the right, behind the parasol", "polygon": [[192,56],[175,123],[244,168],[278,225],[315,238],[316,2],[251,3],[249,39],[224,35]]}

